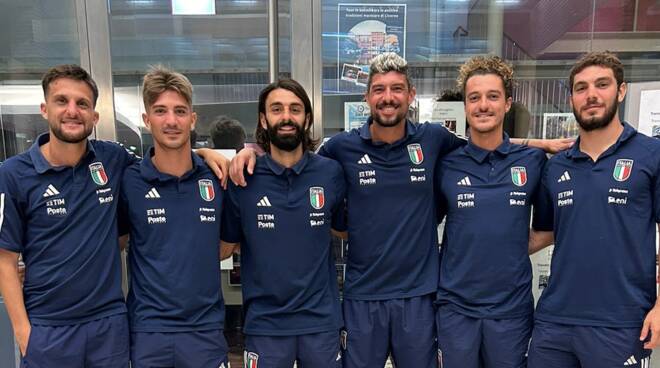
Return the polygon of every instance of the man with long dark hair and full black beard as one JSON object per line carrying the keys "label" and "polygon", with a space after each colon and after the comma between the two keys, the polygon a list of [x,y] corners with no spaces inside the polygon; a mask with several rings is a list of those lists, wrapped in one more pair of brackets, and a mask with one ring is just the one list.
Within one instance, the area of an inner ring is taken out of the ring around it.
{"label": "man with long dark hair and full black beard", "polygon": [[341,367],[342,326],[331,229],[344,231],[341,166],[312,153],[312,105],[298,82],[259,95],[257,159],[245,188],[230,185],[223,254],[241,249],[245,366]]}

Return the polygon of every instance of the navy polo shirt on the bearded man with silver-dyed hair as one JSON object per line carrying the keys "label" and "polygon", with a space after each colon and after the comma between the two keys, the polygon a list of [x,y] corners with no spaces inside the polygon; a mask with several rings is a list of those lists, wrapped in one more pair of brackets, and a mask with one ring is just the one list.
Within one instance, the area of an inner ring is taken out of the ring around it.
{"label": "navy polo shirt on the bearded man with silver-dyed hair", "polygon": [[367,121],[319,153],[337,160],[347,185],[344,298],[386,300],[435,293],[438,235],[433,177],[438,159],[465,141],[435,124],[406,122],[392,144],[371,139]]}

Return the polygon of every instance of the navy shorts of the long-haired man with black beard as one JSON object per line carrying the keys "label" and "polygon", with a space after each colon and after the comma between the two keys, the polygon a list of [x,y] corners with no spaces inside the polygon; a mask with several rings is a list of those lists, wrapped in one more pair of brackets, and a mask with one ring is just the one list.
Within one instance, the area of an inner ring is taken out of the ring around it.
{"label": "navy shorts of the long-haired man with black beard", "polygon": [[341,368],[341,358],[339,331],[245,337],[246,368]]}

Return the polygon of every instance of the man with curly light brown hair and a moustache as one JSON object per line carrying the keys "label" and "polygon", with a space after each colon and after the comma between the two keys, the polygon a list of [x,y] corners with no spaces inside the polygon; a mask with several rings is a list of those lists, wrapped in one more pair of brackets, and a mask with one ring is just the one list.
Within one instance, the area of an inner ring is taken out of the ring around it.
{"label": "man with curly light brown hair and a moustache", "polygon": [[[435,173],[439,220],[446,215],[436,298],[438,359],[445,368],[524,368],[534,312],[529,222],[546,157],[512,144],[504,133],[513,69],[502,59],[468,60],[458,87],[470,139]],[[542,234],[551,241],[552,233]]]}

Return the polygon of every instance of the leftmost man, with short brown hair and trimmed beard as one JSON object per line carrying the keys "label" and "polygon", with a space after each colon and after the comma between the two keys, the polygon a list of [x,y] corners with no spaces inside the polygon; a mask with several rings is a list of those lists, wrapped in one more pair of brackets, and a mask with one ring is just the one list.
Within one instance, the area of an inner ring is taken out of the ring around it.
{"label": "leftmost man, with short brown hair and trimmed beard", "polygon": [[56,66],[42,86],[49,132],[0,167],[0,290],[22,364],[127,367],[116,210],[135,158],[87,139],[99,115],[98,89],[85,70]]}

